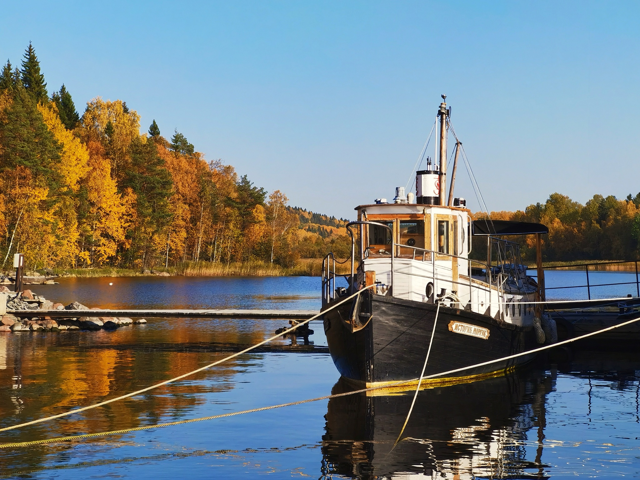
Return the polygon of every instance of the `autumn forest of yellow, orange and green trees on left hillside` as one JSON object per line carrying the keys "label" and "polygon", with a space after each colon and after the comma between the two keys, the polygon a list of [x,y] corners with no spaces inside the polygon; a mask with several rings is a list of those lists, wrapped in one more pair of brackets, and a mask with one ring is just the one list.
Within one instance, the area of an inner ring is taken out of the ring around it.
{"label": "autumn forest of yellow, orange and green trees on left hillside", "polygon": [[[47,92],[33,45],[0,74],[0,260],[31,269],[260,260],[348,252],[344,220],[288,207],[122,100]],[[303,228],[300,228],[303,227]]]}

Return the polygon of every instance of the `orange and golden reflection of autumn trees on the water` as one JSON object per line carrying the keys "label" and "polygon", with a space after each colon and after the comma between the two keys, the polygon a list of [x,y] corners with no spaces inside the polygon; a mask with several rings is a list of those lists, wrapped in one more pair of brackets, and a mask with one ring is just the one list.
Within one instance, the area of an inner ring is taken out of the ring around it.
{"label": "orange and golden reflection of autumn trees on the water", "polygon": [[[13,333],[0,337],[0,426],[66,412],[76,406],[148,387],[209,364],[273,335],[274,322],[150,319],[108,332]],[[236,388],[239,372],[260,368],[264,354],[317,353],[308,340],[282,339],[264,349],[200,372],[176,385],[53,422],[3,432],[3,442],[132,428],[193,417],[212,395]],[[109,447],[127,436],[90,440]],[[3,467],[37,471],[74,444],[3,451]],[[2,476],[2,474],[0,474]]]}

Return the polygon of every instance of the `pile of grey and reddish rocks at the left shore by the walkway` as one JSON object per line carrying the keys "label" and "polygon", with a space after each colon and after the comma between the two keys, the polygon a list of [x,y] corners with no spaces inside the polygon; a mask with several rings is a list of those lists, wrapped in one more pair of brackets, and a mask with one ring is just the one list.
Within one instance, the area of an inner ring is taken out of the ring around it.
{"label": "pile of grey and reddish rocks at the left shore by the walkway", "polygon": [[[100,310],[89,308],[74,301],[69,305],[54,303],[41,295],[36,295],[30,290],[25,290],[18,296],[4,285],[0,286],[0,294],[6,296],[6,308],[10,310],[30,310],[33,316],[20,319],[19,317],[5,313],[0,318],[0,332],[61,332],[65,330],[115,330],[132,324],[144,324],[143,318],[131,319],[129,317],[83,317],[83,310]],[[69,316],[57,320],[49,316],[38,316],[38,310],[68,310]]]}

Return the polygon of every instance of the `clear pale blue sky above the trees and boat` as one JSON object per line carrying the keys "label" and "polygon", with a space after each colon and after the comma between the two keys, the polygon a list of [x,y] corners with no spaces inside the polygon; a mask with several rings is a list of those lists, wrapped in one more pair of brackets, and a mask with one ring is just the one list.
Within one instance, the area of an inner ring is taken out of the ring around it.
{"label": "clear pale blue sky above the trees and boat", "polygon": [[[637,2],[3,2],[79,113],[122,99],[292,205],[393,198],[440,93],[490,210],[640,191]],[[479,209],[465,170],[456,193]]]}

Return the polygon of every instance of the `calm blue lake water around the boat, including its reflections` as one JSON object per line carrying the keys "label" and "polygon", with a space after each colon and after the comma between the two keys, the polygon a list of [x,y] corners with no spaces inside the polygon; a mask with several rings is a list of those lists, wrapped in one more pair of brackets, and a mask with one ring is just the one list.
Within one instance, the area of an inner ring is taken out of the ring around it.
{"label": "calm blue lake water around the boat, including its reflections", "polygon": [[[554,275],[547,276],[548,285],[568,282],[572,273]],[[305,277],[64,278],[60,285],[31,286],[49,300],[90,307],[309,309],[320,306],[319,287],[319,278]],[[255,344],[285,325],[148,319],[115,332],[5,334],[0,425],[147,387]],[[311,328],[315,333],[308,344],[276,340],[258,353],[141,396],[3,432],[0,442],[132,428],[345,391],[322,324]],[[0,477],[639,476],[639,352],[575,350],[562,358],[539,358],[502,378],[424,390],[404,431],[407,438],[395,449],[411,396],[348,396],[74,443],[3,449]]]}

